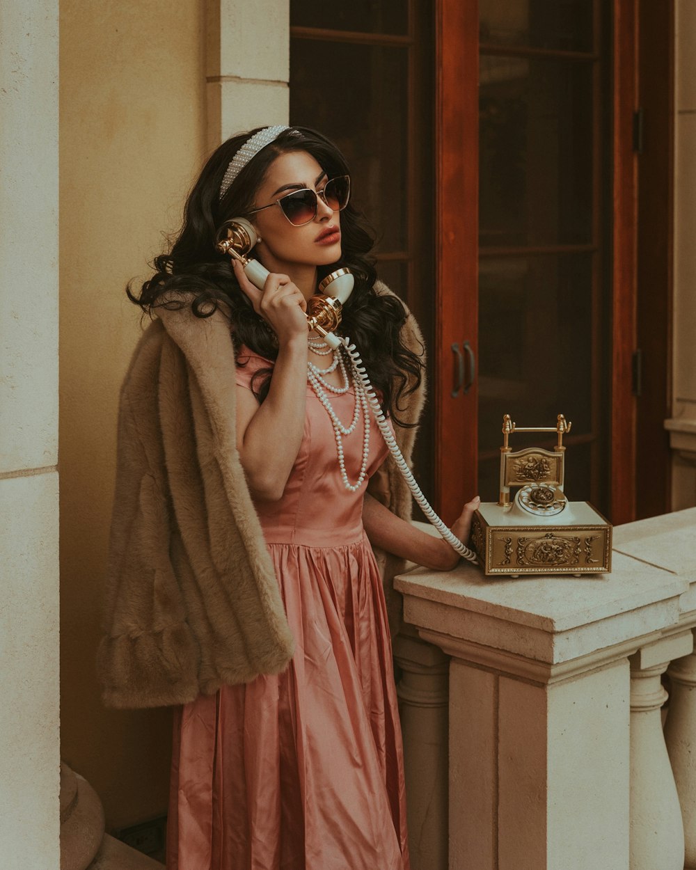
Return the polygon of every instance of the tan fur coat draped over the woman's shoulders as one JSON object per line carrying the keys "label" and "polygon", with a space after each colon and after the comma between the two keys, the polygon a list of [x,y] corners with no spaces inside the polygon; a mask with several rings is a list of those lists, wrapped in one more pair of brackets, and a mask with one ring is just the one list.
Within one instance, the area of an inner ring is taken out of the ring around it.
{"label": "tan fur coat draped over the woman's shoulders", "polygon": [[[389,292],[384,285],[378,291]],[[412,315],[405,344],[421,355]],[[293,653],[278,581],[244,479],[224,311],[157,309],[121,388],[117,480],[97,672],[107,706],[184,704],[278,673]],[[418,420],[424,386],[404,417]],[[397,427],[406,459],[414,429]],[[404,519],[411,493],[391,456],[370,492]],[[392,630],[398,559],[378,553]]]}

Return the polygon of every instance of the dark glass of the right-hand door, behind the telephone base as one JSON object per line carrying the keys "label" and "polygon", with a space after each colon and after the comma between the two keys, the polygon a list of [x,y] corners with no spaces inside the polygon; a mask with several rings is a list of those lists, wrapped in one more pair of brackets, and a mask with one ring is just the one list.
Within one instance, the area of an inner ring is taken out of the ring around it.
{"label": "dark glass of the right-hand door, behind the telephone base", "polygon": [[[606,510],[611,287],[599,0],[480,7],[479,491],[497,498],[504,413],[572,421],[566,492]],[[485,34],[485,43],[484,43]],[[586,54],[580,55],[580,51]],[[512,448],[551,447],[512,436]]]}

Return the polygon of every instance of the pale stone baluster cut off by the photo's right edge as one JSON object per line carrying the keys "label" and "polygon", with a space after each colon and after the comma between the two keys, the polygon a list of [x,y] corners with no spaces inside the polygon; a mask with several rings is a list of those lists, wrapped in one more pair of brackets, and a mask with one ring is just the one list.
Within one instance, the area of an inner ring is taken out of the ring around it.
{"label": "pale stone baluster cut off by the photo's right edge", "polygon": [[696,870],[696,653],[675,659],[665,741],[684,820],[685,870]]}

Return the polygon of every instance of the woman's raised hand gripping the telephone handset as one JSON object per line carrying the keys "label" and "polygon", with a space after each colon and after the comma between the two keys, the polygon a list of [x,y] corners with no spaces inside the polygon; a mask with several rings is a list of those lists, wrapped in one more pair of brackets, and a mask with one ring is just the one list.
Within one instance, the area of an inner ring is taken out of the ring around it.
{"label": "woman's raised hand gripping the telephone handset", "polygon": [[278,345],[290,342],[292,338],[307,335],[307,303],[305,297],[287,275],[269,273],[264,289],[259,290],[251,284],[244,274],[244,267],[233,260],[235,278],[242,291],[251,301],[254,311],[264,318],[278,337]]}

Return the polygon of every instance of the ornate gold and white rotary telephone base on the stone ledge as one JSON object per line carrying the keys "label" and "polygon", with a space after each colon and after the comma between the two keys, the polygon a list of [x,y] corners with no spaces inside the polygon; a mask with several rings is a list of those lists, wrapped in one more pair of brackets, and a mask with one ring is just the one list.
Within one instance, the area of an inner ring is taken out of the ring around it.
{"label": "ornate gold and white rotary telephone base on the stone ledge", "polygon": [[[606,573],[612,570],[612,526],[587,502],[563,492],[566,447],[571,431],[559,414],[551,427],[520,428],[503,417],[498,504],[481,504],[472,522],[472,543],[486,574]],[[512,451],[512,432],[555,432],[552,451]],[[510,501],[510,487],[519,490]]]}

